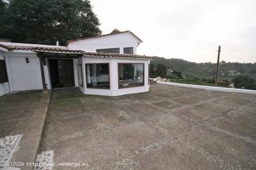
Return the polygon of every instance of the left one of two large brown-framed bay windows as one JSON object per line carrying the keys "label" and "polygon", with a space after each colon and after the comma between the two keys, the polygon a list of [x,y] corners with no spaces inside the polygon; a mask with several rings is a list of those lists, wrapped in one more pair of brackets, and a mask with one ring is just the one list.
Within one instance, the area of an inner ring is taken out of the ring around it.
{"label": "left one of two large brown-framed bay windows", "polygon": [[110,89],[109,63],[92,63],[85,65],[87,88]]}

